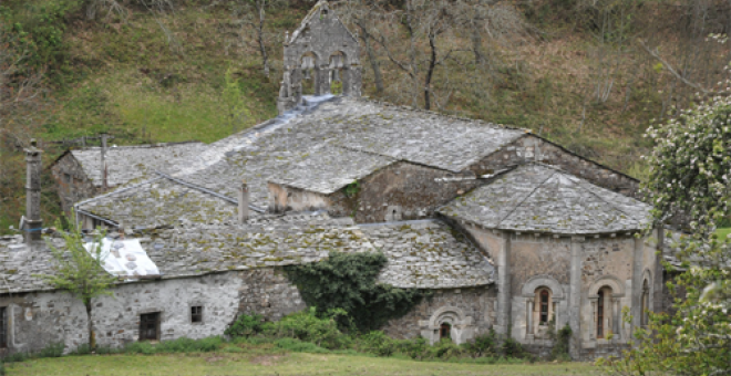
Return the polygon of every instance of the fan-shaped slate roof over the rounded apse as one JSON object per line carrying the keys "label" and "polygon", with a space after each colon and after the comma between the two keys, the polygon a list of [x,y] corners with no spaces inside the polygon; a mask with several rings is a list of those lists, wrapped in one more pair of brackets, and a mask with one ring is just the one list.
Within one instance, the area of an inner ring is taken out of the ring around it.
{"label": "fan-shaped slate roof over the rounded apse", "polygon": [[563,234],[644,229],[649,211],[647,203],[540,164],[517,167],[439,209],[485,228]]}

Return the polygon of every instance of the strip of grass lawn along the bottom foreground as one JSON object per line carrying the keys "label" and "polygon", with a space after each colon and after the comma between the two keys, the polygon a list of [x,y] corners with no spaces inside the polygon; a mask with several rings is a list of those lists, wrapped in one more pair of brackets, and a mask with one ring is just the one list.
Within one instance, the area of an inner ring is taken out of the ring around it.
{"label": "strip of grass lawn along the bottom foreground", "polygon": [[333,354],[86,355],[8,364],[10,376],[601,375],[587,363],[461,364]]}

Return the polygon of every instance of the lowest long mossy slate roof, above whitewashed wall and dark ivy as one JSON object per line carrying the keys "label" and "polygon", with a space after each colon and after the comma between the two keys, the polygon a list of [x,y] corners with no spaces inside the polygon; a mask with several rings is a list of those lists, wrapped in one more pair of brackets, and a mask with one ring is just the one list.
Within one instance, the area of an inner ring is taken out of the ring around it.
{"label": "lowest long mossy slate roof, above whitewashed wall and dark ivy", "polygon": [[[246,226],[193,224],[143,231],[140,239],[163,279],[320,261],[331,251],[382,251],[389,262],[379,281],[401,288],[447,289],[492,283],[492,265],[446,224],[412,221],[357,226],[327,213],[261,216]],[[59,238],[48,238],[63,248]],[[52,272],[43,242],[0,238],[0,293],[48,290],[37,274]]]}

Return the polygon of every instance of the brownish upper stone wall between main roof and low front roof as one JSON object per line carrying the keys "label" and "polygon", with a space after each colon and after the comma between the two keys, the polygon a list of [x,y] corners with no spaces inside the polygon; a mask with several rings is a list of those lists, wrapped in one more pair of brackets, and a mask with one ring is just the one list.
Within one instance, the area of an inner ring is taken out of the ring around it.
{"label": "brownish upper stone wall between main roof and low front roof", "polygon": [[353,197],[342,190],[330,195],[330,213],[351,216],[357,209],[359,223],[432,217],[437,207],[475,188],[477,182],[437,168],[395,163],[363,178]]}

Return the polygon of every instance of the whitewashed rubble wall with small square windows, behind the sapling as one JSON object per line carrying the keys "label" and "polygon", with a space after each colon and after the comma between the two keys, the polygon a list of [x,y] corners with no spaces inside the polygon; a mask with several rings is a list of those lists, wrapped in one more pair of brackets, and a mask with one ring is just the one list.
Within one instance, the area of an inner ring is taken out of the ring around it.
{"label": "whitewashed rubble wall with small square windows, behind the sapling", "polygon": [[[8,348],[0,356],[59,342],[66,351],[89,343],[85,309],[66,292],[4,295],[0,306],[8,317]],[[159,340],[166,341],[222,335],[239,313],[276,321],[306,307],[297,288],[274,268],[122,284],[92,306],[96,343],[111,347],[138,340],[144,313],[159,312]],[[203,307],[200,323],[192,322],[192,306]]]}

